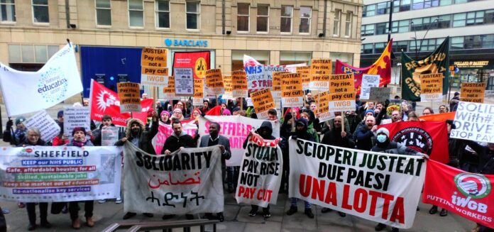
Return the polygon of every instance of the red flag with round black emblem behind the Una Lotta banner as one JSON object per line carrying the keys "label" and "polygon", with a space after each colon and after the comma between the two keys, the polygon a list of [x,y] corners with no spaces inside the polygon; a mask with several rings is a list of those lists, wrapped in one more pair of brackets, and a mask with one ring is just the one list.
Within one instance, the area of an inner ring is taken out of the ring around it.
{"label": "red flag with round black emblem behind the Una Lotta banner", "polygon": [[390,140],[425,153],[431,160],[449,162],[448,131],[444,121],[400,121],[381,127],[388,128]]}

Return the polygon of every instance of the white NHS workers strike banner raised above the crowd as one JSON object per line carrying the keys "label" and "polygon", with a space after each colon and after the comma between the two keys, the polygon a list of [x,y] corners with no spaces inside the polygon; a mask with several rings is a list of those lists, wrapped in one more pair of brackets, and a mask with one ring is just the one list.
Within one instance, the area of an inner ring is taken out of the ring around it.
{"label": "white NHS workers strike banner raised above the crowd", "polygon": [[245,67],[247,73],[248,91],[273,87],[273,72],[285,72],[284,66],[257,65]]}

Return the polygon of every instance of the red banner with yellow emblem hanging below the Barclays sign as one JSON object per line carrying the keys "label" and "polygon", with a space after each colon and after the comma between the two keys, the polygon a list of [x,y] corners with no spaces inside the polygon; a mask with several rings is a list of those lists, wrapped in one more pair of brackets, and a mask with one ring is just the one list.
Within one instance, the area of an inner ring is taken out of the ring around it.
{"label": "red banner with yellow emblem hanging below the Barclays sign", "polygon": [[209,70],[209,51],[174,53],[173,67],[190,67],[194,70],[194,79],[204,79]]}

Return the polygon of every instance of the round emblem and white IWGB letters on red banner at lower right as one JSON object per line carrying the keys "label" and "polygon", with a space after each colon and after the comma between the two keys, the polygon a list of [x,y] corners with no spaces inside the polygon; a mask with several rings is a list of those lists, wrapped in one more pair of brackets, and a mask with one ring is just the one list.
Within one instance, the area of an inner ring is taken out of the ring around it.
{"label": "round emblem and white IWGB letters on red banner at lower right", "polygon": [[473,199],[481,199],[487,197],[490,193],[490,182],[483,175],[472,173],[460,173],[454,177],[456,188],[465,197],[461,197],[457,192],[451,196],[451,201],[456,206],[468,207],[468,209],[478,211],[480,213],[487,212],[488,206]]}

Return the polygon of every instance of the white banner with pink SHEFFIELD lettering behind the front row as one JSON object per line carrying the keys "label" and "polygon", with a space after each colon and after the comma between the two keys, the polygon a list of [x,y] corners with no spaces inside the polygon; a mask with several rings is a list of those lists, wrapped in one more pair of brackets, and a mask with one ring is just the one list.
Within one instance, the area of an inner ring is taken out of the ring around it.
{"label": "white banner with pink SHEFFIELD lettering behind the front row", "polygon": [[[206,116],[199,117],[199,136],[209,134],[209,124],[214,121],[221,126],[219,134],[230,140],[231,158],[226,160],[227,166],[240,166],[243,158],[243,141],[248,133],[260,127],[265,120],[246,118],[244,116]],[[280,122],[269,121],[273,126],[273,136],[280,138]]]}

